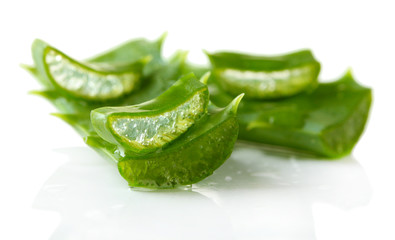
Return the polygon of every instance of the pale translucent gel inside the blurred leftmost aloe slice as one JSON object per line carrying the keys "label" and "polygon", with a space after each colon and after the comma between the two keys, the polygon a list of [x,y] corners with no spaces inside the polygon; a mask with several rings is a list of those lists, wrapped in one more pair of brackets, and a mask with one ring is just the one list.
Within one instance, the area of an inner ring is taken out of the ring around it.
{"label": "pale translucent gel inside the blurred leftmost aloe slice", "polygon": [[126,72],[99,74],[81,68],[54,50],[49,50],[45,61],[53,79],[62,88],[89,98],[114,98],[130,92],[138,76]]}

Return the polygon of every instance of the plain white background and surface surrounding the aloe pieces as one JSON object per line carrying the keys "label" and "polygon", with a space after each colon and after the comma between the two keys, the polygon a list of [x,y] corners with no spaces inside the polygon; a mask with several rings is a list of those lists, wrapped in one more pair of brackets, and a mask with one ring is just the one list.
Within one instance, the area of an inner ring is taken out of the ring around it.
{"label": "plain white background and surface surrounding the aloe pieces", "polygon": [[[0,239],[395,239],[393,1],[2,1]],[[320,78],[348,67],[374,91],[366,131],[337,161],[237,146],[188,191],[136,192],[84,145],[19,68],[41,38],[75,58],[135,37],[164,55],[310,48]]]}

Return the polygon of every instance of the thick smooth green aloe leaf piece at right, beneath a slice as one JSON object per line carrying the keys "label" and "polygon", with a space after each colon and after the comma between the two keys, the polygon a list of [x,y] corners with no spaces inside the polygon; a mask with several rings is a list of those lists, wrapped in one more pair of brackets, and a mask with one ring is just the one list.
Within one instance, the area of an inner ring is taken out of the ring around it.
{"label": "thick smooth green aloe leaf piece at right, beneath a slice", "polygon": [[[211,100],[218,105],[231,99],[219,89],[212,92]],[[245,100],[238,113],[239,138],[338,158],[358,141],[371,98],[371,90],[348,72],[335,82],[319,84],[312,93],[277,101]]]}

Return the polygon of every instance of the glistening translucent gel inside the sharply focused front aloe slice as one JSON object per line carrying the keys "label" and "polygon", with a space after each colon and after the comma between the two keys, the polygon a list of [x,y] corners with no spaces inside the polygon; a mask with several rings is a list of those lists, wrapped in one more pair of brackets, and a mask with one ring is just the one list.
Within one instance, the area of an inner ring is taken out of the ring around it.
{"label": "glistening translucent gel inside the sharply focused front aloe slice", "polygon": [[161,147],[192,126],[204,114],[204,104],[204,96],[198,92],[171,111],[156,116],[116,118],[111,126],[131,146]]}

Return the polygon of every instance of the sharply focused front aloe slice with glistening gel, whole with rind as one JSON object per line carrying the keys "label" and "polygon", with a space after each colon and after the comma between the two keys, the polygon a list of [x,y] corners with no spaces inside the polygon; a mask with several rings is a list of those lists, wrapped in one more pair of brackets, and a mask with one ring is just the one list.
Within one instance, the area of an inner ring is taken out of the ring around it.
{"label": "sharply focused front aloe slice with glistening gel, whole with rind", "polygon": [[[207,82],[208,75],[202,77]],[[207,111],[205,83],[188,74],[148,102],[92,111],[96,132],[110,143],[133,152],[152,152],[186,132]]]}

